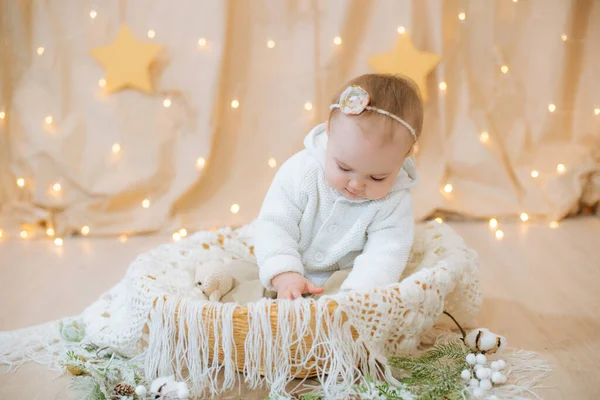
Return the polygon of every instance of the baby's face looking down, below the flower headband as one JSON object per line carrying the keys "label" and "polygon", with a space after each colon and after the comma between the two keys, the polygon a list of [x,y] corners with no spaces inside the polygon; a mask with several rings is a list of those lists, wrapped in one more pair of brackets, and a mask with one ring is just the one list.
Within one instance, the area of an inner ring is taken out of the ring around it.
{"label": "baby's face looking down, below the flower headband", "polygon": [[[401,124],[382,118],[336,116],[328,127],[325,178],[352,200],[377,200],[390,192],[413,139]],[[384,129],[393,126],[386,140]]]}

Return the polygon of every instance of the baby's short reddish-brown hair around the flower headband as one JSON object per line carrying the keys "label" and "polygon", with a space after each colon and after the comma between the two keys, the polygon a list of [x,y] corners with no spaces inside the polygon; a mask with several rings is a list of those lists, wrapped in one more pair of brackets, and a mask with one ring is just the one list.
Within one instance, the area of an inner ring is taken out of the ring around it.
{"label": "baby's short reddish-brown hair around the flower headband", "polygon": [[[408,122],[415,130],[417,138],[421,136],[423,129],[423,100],[418,86],[409,78],[392,74],[365,74],[346,82],[332,99],[332,104],[340,101],[342,92],[352,85],[358,85],[365,89],[371,97],[370,106],[388,111],[404,121]],[[339,109],[333,109],[329,114],[329,121],[339,115]],[[393,119],[371,111],[364,111],[358,117],[368,115]]]}

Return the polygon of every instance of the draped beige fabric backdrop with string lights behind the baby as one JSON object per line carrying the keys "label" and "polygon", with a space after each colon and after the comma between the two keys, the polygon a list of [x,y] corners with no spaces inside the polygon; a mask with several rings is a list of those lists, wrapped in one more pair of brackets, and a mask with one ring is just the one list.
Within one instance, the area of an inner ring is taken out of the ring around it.
{"label": "draped beige fabric backdrop with string lights behind the baby", "polygon": [[[417,48],[442,55],[427,81],[418,218],[442,210],[550,220],[578,210],[582,200],[600,200],[600,1],[0,4],[5,236],[40,222],[58,235],[84,225],[106,235],[252,220],[276,172],[268,160],[280,165],[302,148],[326,118],[332,93],[369,72],[369,57],[393,48],[400,25]],[[105,95],[98,87],[104,70],[89,49],[112,42],[121,22],[138,39],[165,46],[153,69],[155,95]],[[113,143],[122,146],[118,155]],[[52,190],[56,182],[60,192]],[[447,183],[449,194],[441,191]]]}

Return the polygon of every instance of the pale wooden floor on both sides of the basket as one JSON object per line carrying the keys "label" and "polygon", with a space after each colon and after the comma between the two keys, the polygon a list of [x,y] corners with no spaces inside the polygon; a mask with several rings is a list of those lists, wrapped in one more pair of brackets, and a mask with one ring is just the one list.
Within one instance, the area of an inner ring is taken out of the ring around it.
{"label": "pale wooden floor on both sides of the basket", "polygon": [[[481,326],[538,352],[555,368],[544,399],[600,399],[600,219],[501,226],[451,224],[480,256]],[[0,241],[0,330],[75,315],[116,283],[129,262],[168,237]],[[0,399],[70,399],[67,377],[30,365],[0,374]],[[264,398],[264,393],[240,398]]]}

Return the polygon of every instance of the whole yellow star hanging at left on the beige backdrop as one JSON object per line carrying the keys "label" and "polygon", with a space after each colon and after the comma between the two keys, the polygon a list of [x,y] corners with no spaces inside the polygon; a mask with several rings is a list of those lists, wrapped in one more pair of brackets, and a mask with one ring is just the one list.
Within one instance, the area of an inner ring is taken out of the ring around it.
{"label": "whole yellow star hanging at left on the beige backdrop", "polygon": [[90,52],[106,69],[104,90],[107,93],[125,88],[153,93],[150,65],[161,50],[162,46],[158,44],[136,40],[129,28],[122,25],[113,43]]}

